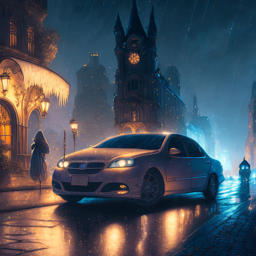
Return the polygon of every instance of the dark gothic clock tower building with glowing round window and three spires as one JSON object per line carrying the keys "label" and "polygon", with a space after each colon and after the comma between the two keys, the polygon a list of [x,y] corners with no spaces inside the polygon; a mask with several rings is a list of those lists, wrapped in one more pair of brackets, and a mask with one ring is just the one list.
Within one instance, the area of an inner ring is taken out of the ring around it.
{"label": "dark gothic clock tower building with glowing round window and three spires", "polygon": [[115,127],[131,132],[185,132],[186,105],[162,75],[157,60],[157,27],[152,7],[147,34],[136,0],[132,1],[126,34],[119,15],[114,26],[118,67],[115,73]]}

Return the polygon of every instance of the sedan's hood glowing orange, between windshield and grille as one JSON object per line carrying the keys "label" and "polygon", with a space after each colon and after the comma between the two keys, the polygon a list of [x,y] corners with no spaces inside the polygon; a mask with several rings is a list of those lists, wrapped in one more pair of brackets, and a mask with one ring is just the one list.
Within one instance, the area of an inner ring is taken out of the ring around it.
{"label": "sedan's hood glowing orange, between windshield and grille", "polygon": [[65,157],[65,160],[74,161],[110,161],[114,158],[130,158],[148,155],[158,150],[134,149],[134,148],[87,148]]}

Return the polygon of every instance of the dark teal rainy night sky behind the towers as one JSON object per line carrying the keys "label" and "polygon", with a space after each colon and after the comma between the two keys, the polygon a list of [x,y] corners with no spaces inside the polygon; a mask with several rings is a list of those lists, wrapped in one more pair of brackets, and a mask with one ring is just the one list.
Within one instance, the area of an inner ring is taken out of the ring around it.
{"label": "dark teal rainy night sky behind the towers", "polygon": [[[119,11],[127,27],[131,0],[51,0],[44,24],[58,30],[61,39],[50,68],[71,84],[69,101],[60,109],[52,98],[43,127],[52,126],[67,141],[72,135],[71,119],[76,95],[76,72],[89,62],[89,52],[99,53],[110,83],[117,60],[113,27]],[[144,28],[148,26],[153,1],[137,0]],[[181,97],[191,111],[192,97],[198,97],[202,116],[208,116],[215,141],[229,150],[233,169],[244,156],[247,137],[247,107],[256,76],[256,2],[254,0],[156,0],[159,67],[165,73],[175,65],[181,74]],[[112,95],[108,95],[113,105]],[[55,103],[57,110],[55,109]],[[58,113],[61,113],[57,115]],[[47,134],[46,134],[47,136]],[[72,143],[68,151],[72,151]]]}

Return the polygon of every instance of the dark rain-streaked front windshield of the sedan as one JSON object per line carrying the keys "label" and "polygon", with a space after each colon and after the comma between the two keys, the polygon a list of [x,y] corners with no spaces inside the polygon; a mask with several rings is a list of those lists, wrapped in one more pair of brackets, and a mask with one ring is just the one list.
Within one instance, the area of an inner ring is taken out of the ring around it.
{"label": "dark rain-streaked front windshield of the sedan", "polygon": [[166,135],[164,134],[129,134],[108,139],[94,148],[139,148],[159,149]]}

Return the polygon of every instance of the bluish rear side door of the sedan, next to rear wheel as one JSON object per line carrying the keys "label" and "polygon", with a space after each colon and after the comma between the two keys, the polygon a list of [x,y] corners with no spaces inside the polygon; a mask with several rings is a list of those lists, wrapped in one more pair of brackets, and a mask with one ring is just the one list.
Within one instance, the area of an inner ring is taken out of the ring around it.
{"label": "bluish rear side door of the sedan, next to rear wheel", "polygon": [[182,137],[182,140],[186,146],[192,164],[191,189],[201,189],[207,182],[210,170],[210,161],[198,144],[185,137]]}

